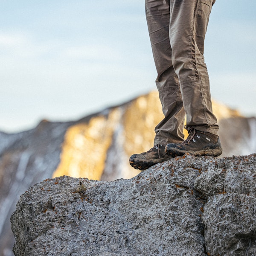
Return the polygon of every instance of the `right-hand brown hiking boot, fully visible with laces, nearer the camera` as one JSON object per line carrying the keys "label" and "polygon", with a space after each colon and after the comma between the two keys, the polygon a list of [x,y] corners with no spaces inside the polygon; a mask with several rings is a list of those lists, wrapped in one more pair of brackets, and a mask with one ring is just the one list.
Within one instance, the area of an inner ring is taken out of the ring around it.
{"label": "right-hand brown hiking boot, fully visible with laces, nearer the camera", "polygon": [[182,156],[189,153],[193,156],[218,157],[222,154],[221,142],[218,135],[209,132],[198,131],[193,127],[185,126],[189,136],[182,143],[167,144],[165,151],[169,155]]}

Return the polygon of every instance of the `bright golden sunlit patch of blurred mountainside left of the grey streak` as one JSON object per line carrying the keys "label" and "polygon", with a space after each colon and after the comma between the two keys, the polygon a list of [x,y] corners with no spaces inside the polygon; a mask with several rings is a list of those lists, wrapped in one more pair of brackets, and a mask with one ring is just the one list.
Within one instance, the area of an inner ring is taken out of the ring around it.
{"label": "bright golden sunlit patch of blurred mountainside left of the grey streak", "polygon": [[71,126],[66,132],[61,163],[54,175],[100,180],[120,117],[121,109],[114,108],[106,116],[95,116],[88,123]]}

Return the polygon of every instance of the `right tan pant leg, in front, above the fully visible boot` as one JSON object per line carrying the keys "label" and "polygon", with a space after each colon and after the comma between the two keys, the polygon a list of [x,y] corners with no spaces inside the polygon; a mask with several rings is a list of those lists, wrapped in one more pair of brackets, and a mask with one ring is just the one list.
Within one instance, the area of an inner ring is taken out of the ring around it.
{"label": "right tan pant leg, in front, above the fully visible boot", "polygon": [[187,125],[218,135],[204,62],[204,36],[213,3],[214,0],[170,0],[169,36]]}

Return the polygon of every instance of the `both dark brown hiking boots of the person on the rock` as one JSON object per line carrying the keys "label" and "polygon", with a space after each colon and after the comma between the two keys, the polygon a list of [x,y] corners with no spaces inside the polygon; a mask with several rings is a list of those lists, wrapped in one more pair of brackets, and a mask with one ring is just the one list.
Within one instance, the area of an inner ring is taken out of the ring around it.
{"label": "both dark brown hiking boots of the person on the rock", "polygon": [[193,127],[185,128],[188,130],[189,136],[182,143],[170,143],[166,146],[154,145],[147,152],[133,154],[129,159],[130,165],[135,169],[145,170],[157,163],[186,153],[199,157],[217,157],[222,154],[220,139],[217,135],[198,131]]}

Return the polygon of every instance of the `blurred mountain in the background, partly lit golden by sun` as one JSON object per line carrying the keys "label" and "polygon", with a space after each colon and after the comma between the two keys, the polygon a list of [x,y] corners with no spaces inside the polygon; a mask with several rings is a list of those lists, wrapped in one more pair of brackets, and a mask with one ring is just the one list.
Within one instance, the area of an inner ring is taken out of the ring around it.
{"label": "blurred mountain in the background, partly lit golden by sun", "polygon": [[[256,118],[213,102],[223,146],[221,157],[256,152]],[[41,121],[17,134],[0,132],[0,256],[11,256],[10,216],[20,195],[47,178],[67,175],[92,180],[131,178],[131,154],[153,145],[163,113],[157,92],[70,122]]]}

